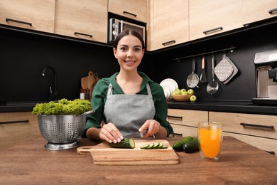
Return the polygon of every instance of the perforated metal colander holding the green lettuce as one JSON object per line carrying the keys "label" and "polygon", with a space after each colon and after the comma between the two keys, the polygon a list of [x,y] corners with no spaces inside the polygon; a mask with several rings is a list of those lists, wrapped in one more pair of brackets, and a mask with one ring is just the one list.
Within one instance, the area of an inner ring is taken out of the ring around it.
{"label": "perforated metal colander holding the green lettuce", "polygon": [[77,147],[77,139],[85,129],[86,115],[38,115],[40,134],[48,141],[46,149],[70,149]]}

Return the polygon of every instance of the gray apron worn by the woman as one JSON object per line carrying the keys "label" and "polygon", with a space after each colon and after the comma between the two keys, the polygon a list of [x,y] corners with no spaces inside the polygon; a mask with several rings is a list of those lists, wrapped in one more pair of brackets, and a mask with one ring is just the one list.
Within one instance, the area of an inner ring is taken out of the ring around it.
{"label": "gray apron worn by the woman", "polygon": [[112,84],[109,84],[104,115],[107,123],[112,122],[121,134],[138,132],[146,120],[155,116],[155,106],[149,84],[146,84],[148,95],[112,95]]}

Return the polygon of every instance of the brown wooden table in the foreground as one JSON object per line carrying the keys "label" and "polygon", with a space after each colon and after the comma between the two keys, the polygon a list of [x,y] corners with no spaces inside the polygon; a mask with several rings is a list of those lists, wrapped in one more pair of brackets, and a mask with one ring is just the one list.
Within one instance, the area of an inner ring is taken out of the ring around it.
{"label": "brown wooden table in the foreground", "polygon": [[[167,139],[172,145],[180,137]],[[233,137],[224,137],[218,162],[177,152],[179,164],[170,165],[95,165],[77,148],[53,151],[45,144],[36,137],[0,151],[0,184],[277,184],[277,157]]]}

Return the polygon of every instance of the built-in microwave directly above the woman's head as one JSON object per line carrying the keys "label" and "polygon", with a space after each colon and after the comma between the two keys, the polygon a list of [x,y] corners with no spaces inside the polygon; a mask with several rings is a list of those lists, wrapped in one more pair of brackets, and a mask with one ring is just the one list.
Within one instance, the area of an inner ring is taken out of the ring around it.
{"label": "built-in microwave directly above the woman's head", "polygon": [[134,30],[138,32],[143,38],[144,43],[146,43],[146,26],[141,26],[136,23],[129,23],[124,20],[119,20],[117,18],[109,18],[109,42],[114,42],[116,36],[119,35],[124,30]]}

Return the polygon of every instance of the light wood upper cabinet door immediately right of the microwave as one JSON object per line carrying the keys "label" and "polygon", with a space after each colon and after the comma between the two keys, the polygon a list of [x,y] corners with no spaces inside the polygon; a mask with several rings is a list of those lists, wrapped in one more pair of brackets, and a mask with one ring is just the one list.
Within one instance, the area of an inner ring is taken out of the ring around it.
{"label": "light wood upper cabinet door immediately right of the microwave", "polygon": [[188,0],[153,0],[151,50],[189,41]]}

